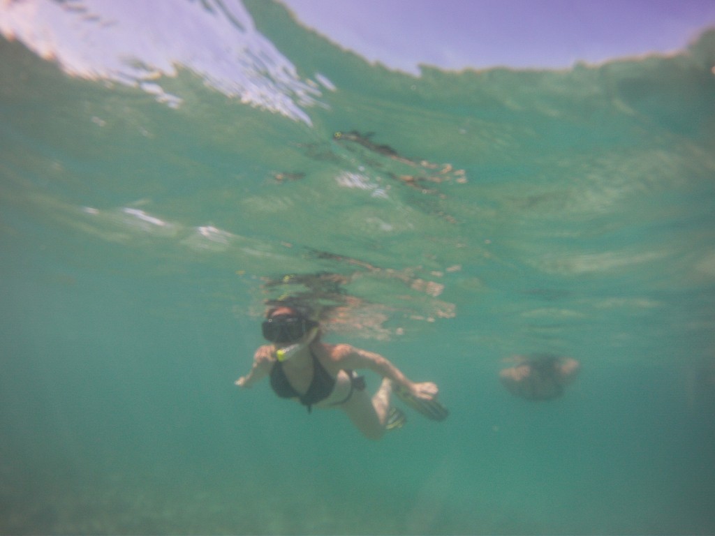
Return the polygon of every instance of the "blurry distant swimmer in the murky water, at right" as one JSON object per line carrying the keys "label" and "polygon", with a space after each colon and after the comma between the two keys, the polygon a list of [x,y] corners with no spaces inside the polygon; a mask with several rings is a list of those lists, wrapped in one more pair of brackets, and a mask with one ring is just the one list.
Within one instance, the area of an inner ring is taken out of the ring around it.
{"label": "blurry distant swimmer in the murky water, at right", "polygon": [[571,357],[535,354],[516,356],[517,364],[499,372],[499,379],[512,394],[527,400],[551,400],[563,394],[581,366]]}

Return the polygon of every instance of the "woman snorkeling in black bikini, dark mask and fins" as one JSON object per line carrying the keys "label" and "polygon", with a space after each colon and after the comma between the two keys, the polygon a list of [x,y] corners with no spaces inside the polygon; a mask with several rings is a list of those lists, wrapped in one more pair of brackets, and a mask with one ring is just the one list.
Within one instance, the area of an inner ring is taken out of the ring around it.
{"label": "woman snorkeling in black bikini, dark mask and fins", "polygon": [[[252,369],[235,382],[239,387],[251,387],[270,376],[279,397],[300,402],[308,412],[312,407],[339,408],[371,440],[405,423],[403,412],[391,405],[393,392],[430,419],[443,420],[448,415],[437,402],[438,387],[432,382],[410,381],[380,354],[322,342],[320,325],[306,307],[290,304],[269,309],[262,332],[271,344],[256,350]],[[383,377],[373,397],[355,369],[370,369]]]}

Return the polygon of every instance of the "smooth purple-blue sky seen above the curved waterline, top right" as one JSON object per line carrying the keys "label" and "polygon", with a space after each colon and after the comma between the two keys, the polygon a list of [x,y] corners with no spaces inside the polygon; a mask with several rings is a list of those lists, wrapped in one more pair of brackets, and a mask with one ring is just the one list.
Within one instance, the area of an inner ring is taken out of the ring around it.
{"label": "smooth purple-blue sky seen above the curved waterline, top right", "polygon": [[715,27],[715,0],[281,1],[337,44],[415,74],[669,53]]}

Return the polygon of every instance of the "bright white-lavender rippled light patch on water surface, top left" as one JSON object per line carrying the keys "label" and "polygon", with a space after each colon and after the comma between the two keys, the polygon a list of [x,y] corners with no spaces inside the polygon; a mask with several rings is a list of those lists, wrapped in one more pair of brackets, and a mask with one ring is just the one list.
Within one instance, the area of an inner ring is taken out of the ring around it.
{"label": "bright white-lavender rippled light patch on water surface, top left", "polygon": [[[240,0],[0,2],[0,33],[71,76],[136,86],[177,107],[161,77],[182,66],[245,104],[311,124],[319,86],[260,34]],[[330,85],[324,86],[330,88]]]}

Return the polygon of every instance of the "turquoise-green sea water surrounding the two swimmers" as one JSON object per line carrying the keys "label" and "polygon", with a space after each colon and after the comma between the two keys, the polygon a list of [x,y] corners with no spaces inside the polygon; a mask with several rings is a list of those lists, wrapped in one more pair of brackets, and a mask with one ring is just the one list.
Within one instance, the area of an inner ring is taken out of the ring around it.
{"label": "turquoise-green sea water surrounding the two swimmers", "polygon": [[[0,40],[0,532],[714,532],[714,35],[415,79],[247,7],[335,86],[310,124]],[[317,272],[345,281],[327,339],[437,382],[448,420],[369,442],[238,391],[263,300]],[[516,399],[530,352],[581,375]]]}

